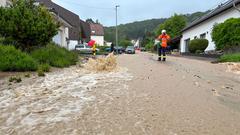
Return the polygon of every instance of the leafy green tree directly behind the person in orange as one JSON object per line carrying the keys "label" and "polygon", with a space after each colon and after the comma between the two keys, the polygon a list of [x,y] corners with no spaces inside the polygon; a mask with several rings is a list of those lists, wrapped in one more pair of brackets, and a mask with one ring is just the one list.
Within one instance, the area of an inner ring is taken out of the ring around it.
{"label": "leafy green tree directly behind the person in orange", "polygon": [[160,24],[156,30],[156,34],[160,35],[162,30],[167,30],[167,33],[172,37],[181,35],[181,30],[186,26],[187,21],[183,15],[174,14],[171,18]]}

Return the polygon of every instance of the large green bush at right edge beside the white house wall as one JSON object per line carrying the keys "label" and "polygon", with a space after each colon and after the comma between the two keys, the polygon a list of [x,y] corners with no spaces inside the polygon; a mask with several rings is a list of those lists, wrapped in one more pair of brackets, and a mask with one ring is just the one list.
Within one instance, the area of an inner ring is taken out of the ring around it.
{"label": "large green bush at right edge beside the white house wall", "polygon": [[240,18],[231,18],[213,27],[212,39],[218,50],[240,47]]}

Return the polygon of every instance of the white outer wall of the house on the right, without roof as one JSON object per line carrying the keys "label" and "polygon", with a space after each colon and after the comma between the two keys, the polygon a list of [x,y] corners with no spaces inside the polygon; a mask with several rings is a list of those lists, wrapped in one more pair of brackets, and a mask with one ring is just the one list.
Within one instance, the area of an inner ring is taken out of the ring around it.
{"label": "white outer wall of the house on the right, without roof", "polygon": [[[240,8],[240,6],[238,6]],[[215,50],[215,44],[212,41],[211,33],[213,26],[216,23],[222,23],[225,20],[229,18],[239,18],[240,17],[240,12],[238,12],[236,9],[232,8],[229,9],[209,20],[206,20],[205,22],[187,30],[182,33],[183,37],[181,39],[181,52],[186,52],[185,50],[185,40],[186,39],[194,39],[195,36],[200,38],[200,35],[203,33],[206,33],[206,39],[209,41],[209,45],[205,51],[210,51],[210,50]]]}

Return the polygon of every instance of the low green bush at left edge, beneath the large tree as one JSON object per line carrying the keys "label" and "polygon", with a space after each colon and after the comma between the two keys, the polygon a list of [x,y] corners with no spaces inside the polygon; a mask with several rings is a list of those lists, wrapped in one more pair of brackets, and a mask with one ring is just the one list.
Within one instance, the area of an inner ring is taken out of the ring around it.
{"label": "low green bush at left edge, beneath the large tree", "polygon": [[0,45],[1,71],[36,71],[38,64],[28,54],[13,46]]}

